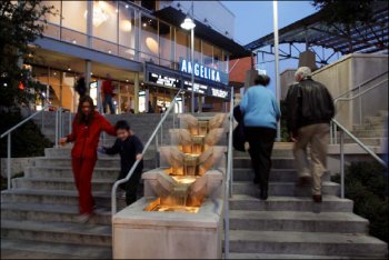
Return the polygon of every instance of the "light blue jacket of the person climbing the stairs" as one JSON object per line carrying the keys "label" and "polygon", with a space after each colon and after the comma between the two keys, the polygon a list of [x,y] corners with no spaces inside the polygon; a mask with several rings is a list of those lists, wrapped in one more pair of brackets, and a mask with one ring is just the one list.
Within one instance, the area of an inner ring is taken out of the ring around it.
{"label": "light blue jacket of the person climbing the stairs", "polygon": [[272,91],[262,86],[250,87],[240,102],[245,127],[277,129],[281,117],[280,109]]}

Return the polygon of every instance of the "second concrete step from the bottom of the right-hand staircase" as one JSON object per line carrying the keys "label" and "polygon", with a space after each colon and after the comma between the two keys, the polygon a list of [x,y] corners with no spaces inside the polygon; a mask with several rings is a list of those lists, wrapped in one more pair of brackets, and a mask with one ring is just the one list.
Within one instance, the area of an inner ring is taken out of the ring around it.
{"label": "second concrete step from the bottom of the right-hand staircase", "polygon": [[230,211],[230,230],[367,233],[368,224],[351,212]]}

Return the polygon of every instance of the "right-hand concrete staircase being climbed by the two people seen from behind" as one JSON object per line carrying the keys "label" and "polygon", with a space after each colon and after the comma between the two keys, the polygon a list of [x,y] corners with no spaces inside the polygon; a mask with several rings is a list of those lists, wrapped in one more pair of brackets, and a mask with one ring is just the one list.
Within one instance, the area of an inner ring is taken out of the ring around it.
{"label": "right-hand concrete staircase being climbed by the two people seen from behind", "polygon": [[368,234],[368,220],[340,199],[339,184],[323,177],[323,202],[313,203],[310,188],[296,187],[291,151],[277,144],[269,199],[259,189],[247,153],[233,158],[230,199],[231,259],[387,259],[387,244]]}

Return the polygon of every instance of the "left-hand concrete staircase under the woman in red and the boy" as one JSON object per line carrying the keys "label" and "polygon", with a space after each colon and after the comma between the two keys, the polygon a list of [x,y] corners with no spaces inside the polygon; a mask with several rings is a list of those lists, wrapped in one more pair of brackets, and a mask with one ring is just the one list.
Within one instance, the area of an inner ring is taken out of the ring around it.
{"label": "left-hand concrete staircase under the woman in red and the boy", "polygon": [[[150,158],[150,157],[149,157]],[[144,170],[154,168],[146,157]],[[119,157],[100,156],[92,180],[101,212],[79,223],[78,194],[70,167],[70,148],[49,148],[36,158],[13,189],[1,192],[1,258],[109,259],[110,191],[119,173]],[[124,201],[119,201],[119,208]]]}

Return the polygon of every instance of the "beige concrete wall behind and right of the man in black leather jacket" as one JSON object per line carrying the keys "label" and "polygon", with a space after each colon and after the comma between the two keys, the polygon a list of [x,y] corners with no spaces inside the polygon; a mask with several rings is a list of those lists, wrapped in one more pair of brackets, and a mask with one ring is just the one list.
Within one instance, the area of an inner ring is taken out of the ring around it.
{"label": "beige concrete wall behind and right of the man in black leather jacket", "polygon": [[[388,71],[387,54],[352,53],[345,56],[332,64],[315,71],[313,79],[323,83],[329,89],[332,97],[337,98],[385,71]],[[361,91],[368,89],[375,82],[377,81],[363,86]],[[358,91],[355,91],[351,96],[357,93]],[[351,129],[353,124],[360,123],[359,102],[361,103],[362,110],[361,118],[365,116],[373,116],[379,110],[388,110],[388,83],[380,84],[379,88],[366,94],[361,101],[356,99],[353,101],[339,101],[337,103],[336,118],[348,129]]]}

